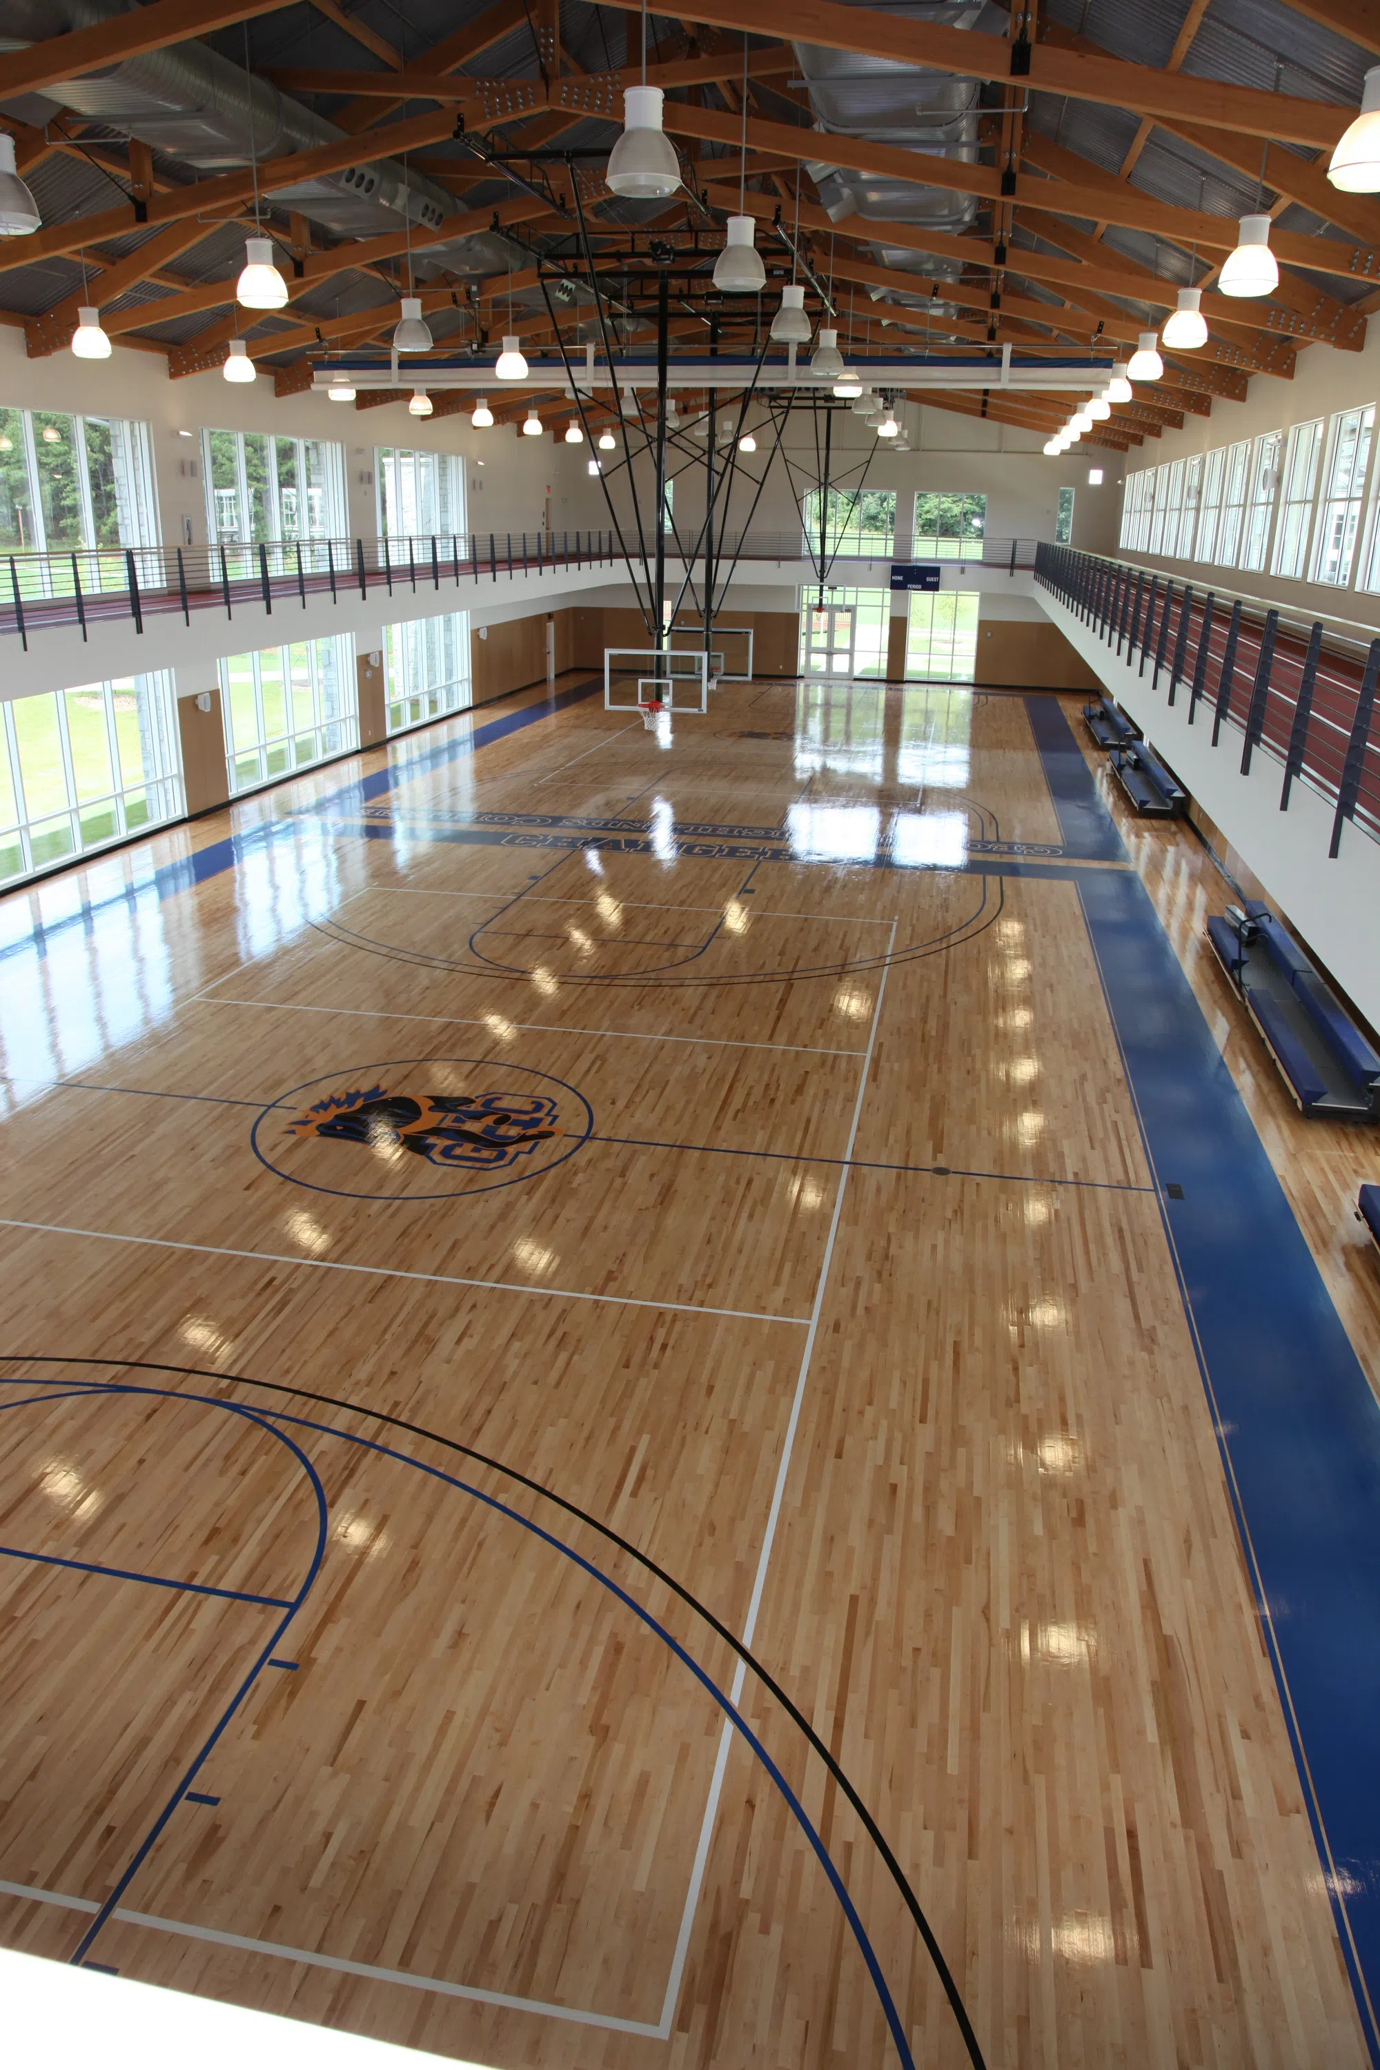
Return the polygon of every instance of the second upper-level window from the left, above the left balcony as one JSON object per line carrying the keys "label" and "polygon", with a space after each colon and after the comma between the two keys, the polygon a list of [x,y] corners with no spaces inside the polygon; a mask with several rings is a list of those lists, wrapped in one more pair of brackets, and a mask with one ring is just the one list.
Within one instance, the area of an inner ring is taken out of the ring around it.
{"label": "second upper-level window from the left, above the left balcony", "polygon": [[201,460],[213,546],[346,536],[343,445],[203,431]]}

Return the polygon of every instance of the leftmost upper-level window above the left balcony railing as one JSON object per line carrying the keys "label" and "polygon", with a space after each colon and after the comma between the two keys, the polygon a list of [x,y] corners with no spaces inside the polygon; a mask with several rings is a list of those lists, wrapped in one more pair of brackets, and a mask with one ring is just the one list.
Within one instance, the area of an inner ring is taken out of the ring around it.
{"label": "leftmost upper-level window above the left balcony railing", "polygon": [[[122,549],[157,544],[147,424],[62,410],[0,410],[0,553],[17,557],[21,596],[70,596],[79,580],[83,590],[122,590]],[[64,559],[46,565],[23,555]],[[145,561],[139,575],[157,580]]]}

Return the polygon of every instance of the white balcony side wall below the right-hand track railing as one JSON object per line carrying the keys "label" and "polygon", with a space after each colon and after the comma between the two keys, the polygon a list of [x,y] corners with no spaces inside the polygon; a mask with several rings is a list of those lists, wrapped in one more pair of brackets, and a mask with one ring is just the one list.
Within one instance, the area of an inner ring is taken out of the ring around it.
{"label": "white balcony side wall below the right-hand track railing", "polygon": [[1092,625],[1068,611],[1049,590],[1041,590],[1047,617],[1097,671],[1117,704],[1130,712],[1150,745],[1163,753],[1186,791],[1221,828],[1248,869],[1279,900],[1281,911],[1303,936],[1361,1014],[1380,1023],[1380,958],[1376,958],[1376,911],[1380,911],[1380,842],[1347,822],[1341,853],[1328,857],[1332,805],[1295,782],[1289,811],[1279,809],[1283,766],[1262,747],[1241,776],[1241,735],[1225,727],[1212,747],[1212,716],[1198,706],[1188,722],[1188,693],[1169,708],[1169,677],[1152,689],[1152,669],[1140,675],[1136,662],[1117,660]]}

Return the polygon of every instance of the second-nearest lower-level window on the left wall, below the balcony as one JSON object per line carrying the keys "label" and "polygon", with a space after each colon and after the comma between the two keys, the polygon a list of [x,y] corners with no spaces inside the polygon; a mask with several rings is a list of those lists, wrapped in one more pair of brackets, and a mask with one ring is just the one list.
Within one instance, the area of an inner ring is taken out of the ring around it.
{"label": "second-nearest lower-level window on the left wall, below the balcony", "polygon": [[230,654],[217,667],[232,793],[360,745],[350,638]]}

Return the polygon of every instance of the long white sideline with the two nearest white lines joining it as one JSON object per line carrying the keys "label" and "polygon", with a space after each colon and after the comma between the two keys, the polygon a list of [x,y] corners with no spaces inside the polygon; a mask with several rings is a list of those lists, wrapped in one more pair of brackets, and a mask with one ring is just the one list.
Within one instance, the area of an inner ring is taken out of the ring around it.
{"label": "long white sideline with the two nearest white lines joining it", "polygon": [[[892,921],[892,934],[888,938],[888,950],[886,950],[888,958],[890,958],[892,948],[896,944],[896,927],[898,927],[898,921]],[[859,1126],[861,1126],[861,1120],[863,1120],[863,1099],[867,1097],[867,1078],[871,1074],[873,1049],[877,1045],[877,1027],[881,1023],[881,1004],[883,1004],[883,998],[886,998],[888,975],[890,975],[890,960],[883,963],[883,967],[881,967],[881,981],[877,985],[877,1000],[873,1004],[873,1021],[871,1021],[871,1029],[869,1029],[869,1035],[867,1035],[867,1049],[861,1052],[863,1054],[863,1070],[859,1072],[859,1091],[857,1091],[857,1099],[852,1103],[852,1120],[850,1120],[850,1126],[848,1126],[848,1141],[844,1145],[844,1165],[842,1165],[842,1172],[840,1172],[840,1178],[838,1178],[838,1190],[834,1194],[834,1213],[830,1217],[830,1230],[828,1230],[826,1244],[823,1244],[823,1259],[821,1259],[821,1265],[819,1265],[819,1279],[815,1283],[815,1300],[811,1304],[809,1317],[751,1317],[745,1310],[737,1310],[737,1308],[693,1308],[693,1306],[683,1304],[683,1302],[648,1302],[648,1300],[639,1300],[639,1298],[633,1298],[633,1296],[610,1296],[610,1294],[573,1294],[573,1296],[565,1294],[565,1296],[561,1296],[561,1290],[557,1290],[557,1288],[511,1288],[511,1292],[519,1292],[519,1294],[548,1294],[552,1298],[573,1298],[573,1300],[594,1300],[594,1302],[619,1302],[621,1306],[637,1306],[637,1308],[677,1308],[677,1310],[691,1312],[691,1314],[720,1314],[720,1317],[726,1314],[726,1317],[737,1317],[741,1321],[797,1323],[797,1325],[805,1327],[805,1346],[801,1350],[801,1368],[799,1368],[799,1374],[797,1374],[794,1395],[790,1399],[790,1414],[786,1418],[786,1437],[784,1437],[782,1455],[780,1455],[780,1461],[778,1461],[778,1468],[776,1468],[776,1482],[774,1482],[774,1488],[772,1488],[772,1505],[770,1505],[770,1511],[768,1511],[768,1526],[766,1526],[766,1534],[763,1534],[763,1540],[761,1540],[761,1552],[757,1555],[757,1571],[753,1575],[753,1592],[751,1592],[749,1606],[747,1606],[747,1621],[743,1625],[743,1644],[745,1646],[751,1646],[753,1633],[757,1629],[757,1615],[761,1610],[761,1598],[766,1594],[768,1567],[772,1563],[772,1550],[774,1550],[774,1544],[776,1544],[776,1530],[778,1530],[780,1513],[782,1513],[782,1507],[784,1507],[786,1480],[788,1480],[788,1474],[790,1474],[790,1459],[792,1459],[792,1453],[794,1453],[794,1439],[797,1439],[797,1432],[799,1432],[799,1426],[801,1426],[801,1412],[803,1412],[803,1406],[805,1406],[805,1387],[809,1383],[809,1368],[811,1368],[811,1360],[813,1360],[813,1352],[815,1352],[815,1341],[817,1341],[817,1335],[819,1335],[819,1317],[823,1312],[823,1296],[826,1296],[826,1290],[828,1290],[830,1265],[834,1261],[834,1244],[838,1240],[838,1228],[840,1228],[842,1211],[844,1211],[844,1194],[846,1194],[846,1188],[848,1188],[848,1174],[852,1170],[852,1151],[854,1151],[857,1136],[859,1136]],[[308,1010],[329,1012],[329,1008],[308,1008]],[[859,1052],[848,1052],[848,1054],[857,1056]],[[432,1273],[397,1273],[397,1271],[389,1271],[387,1267],[339,1265],[339,1263],[333,1263],[329,1259],[277,1259],[271,1252],[221,1250],[221,1248],[215,1248],[215,1246],[209,1246],[209,1244],[178,1244],[178,1242],[170,1242],[166,1238],[112,1236],[110,1232],[103,1232],[103,1230],[62,1230],[62,1228],[56,1228],[56,1225],[50,1225],[50,1223],[12,1221],[8,1217],[0,1217],[0,1228],[50,1230],[52,1234],[62,1234],[62,1236],[95,1236],[95,1238],[103,1238],[108,1242],[155,1244],[157,1248],[166,1248],[166,1250],[205,1250],[205,1252],[211,1252],[215,1256],[269,1259],[271,1263],[308,1265],[308,1267],[314,1267],[319,1271],[358,1271],[358,1273],[374,1273],[379,1277],[389,1277],[389,1279],[434,1279],[434,1281],[441,1281],[441,1283],[494,1285],[494,1288],[509,1290],[505,1281],[457,1279],[457,1277],[439,1275],[439,1273],[437,1275],[432,1275]],[[732,1683],[730,1683],[730,1689],[728,1689],[728,1699],[732,1702],[734,1708],[741,1702],[743,1683],[745,1681],[747,1681],[747,1662],[743,1662],[739,1658],[734,1675],[732,1675]],[[699,1906],[699,1892],[703,1888],[703,1875],[706,1875],[708,1861],[710,1861],[710,1846],[712,1846],[712,1840],[714,1840],[714,1826],[716,1826],[716,1820],[718,1820],[718,1805],[720,1805],[720,1797],[722,1797],[722,1788],[724,1788],[724,1776],[726,1776],[726,1770],[728,1770],[728,1749],[732,1745],[734,1731],[737,1731],[737,1726],[732,1724],[732,1720],[724,1718],[724,1724],[722,1724],[722,1731],[720,1731],[720,1741],[718,1741],[718,1753],[714,1757],[714,1774],[712,1774],[712,1780],[710,1780],[710,1793],[708,1793],[703,1817],[701,1817],[701,1824],[699,1824],[699,1838],[697,1838],[697,1844],[695,1844],[695,1857],[693,1857],[693,1863],[691,1863],[691,1877],[689,1877],[689,1888],[687,1888],[687,1894],[685,1894],[685,1906],[681,1911],[681,1927],[679,1927],[679,1933],[677,1933],[677,1946],[674,1946],[674,1954],[672,1954],[672,1960],[670,1960],[670,1975],[666,1979],[666,1995],[662,2000],[662,2016],[660,2016],[660,2020],[654,2027],[650,2022],[646,2022],[646,2020],[625,2020],[625,2018],[619,2018],[617,2014],[586,2012],[586,2010],[577,2010],[577,2008],[569,2008],[569,2006],[552,2006],[552,2004],[548,2004],[544,2000],[511,1998],[511,1995],[501,1993],[501,1991],[484,1991],[478,1985],[459,1985],[459,1983],[449,1983],[449,1981],[434,1979],[434,1977],[414,1977],[414,1975],[408,1975],[406,1971],[381,1969],[381,1966],[374,1966],[370,1962],[354,1962],[350,1958],[321,1956],[321,1954],[314,1954],[314,1952],[304,1950],[304,1948],[286,1948],[286,1946],[279,1946],[275,1942],[261,1942],[261,1940],[252,1940],[252,1938],[240,1935],[240,1933],[223,1933],[223,1931],[219,1931],[215,1927],[197,1927],[197,1925],[188,1925],[184,1921],[159,1919],[153,1913],[132,1913],[132,1911],[116,1909],[112,1917],[118,1919],[118,1921],[122,1921],[122,1923],[126,1923],[126,1925],[153,1927],[153,1929],[163,1931],[163,1933],[178,1933],[178,1935],[182,1935],[186,1940],[213,1942],[215,1946],[240,1948],[240,1950],[254,1952],[254,1954],[271,1954],[271,1956],[277,1956],[279,1960],[304,1962],[304,1964],[308,1964],[312,1969],[329,1969],[329,1971],[335,1971],[335,1973],[341,1973],[341,1975],[350,1975],[350,1977],[368,1977],[368,1979],[374,1979],[379,1983],[397,1983],[397,1985],[406,1985],[410,1989],[437,1991],[439,1995],[445,1995],[445,1998],[466,1998],[466,2000],[472,2000],[472,2002],[478,2002],[478,2004],[501,2006],[501,2008],[513,2010],[513,2012],[532,2012],[532,2014],[538,2014],[538,2016],[544,2016],[544,2018],[569,2020],[569,2022],[575,2022],[579,2027],[598,2027],[598,2029],[612,2031],[612,2033],[641,2035],[641,2037],[646,2037],[650,2041],[668,2041],[670,2039],[672,2020],[674,2020],[674,2012],[677,2012],[677,2004],[679,2004],[679,1998],[681,1998],[681,1983],[685,1979],[685,1962],[689,1958],[689,1940],[691,1940],[691,1931],[693,1931],[693,1923],[695,1923],[695,1911]],[[31,1886],[25,1886],[25,1884],[8,1884],[8,1882],[2,1882],[2,1880],[0,1880],[0,1892],[4,1892],[8,1896],[19,1896],[19,1898],[33,1898],[33,1900],[48,1902],[48,1904],[60,1904],[60,1906],[66,1906],[70,1911],[95,1913],[99,1909],[91,1898],[70,1898],[70,1896],[62,1896],[60,1892],[39,1890],[39,1888],[31,1888]]]}

